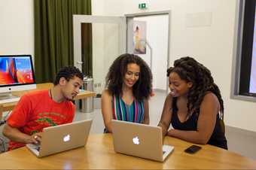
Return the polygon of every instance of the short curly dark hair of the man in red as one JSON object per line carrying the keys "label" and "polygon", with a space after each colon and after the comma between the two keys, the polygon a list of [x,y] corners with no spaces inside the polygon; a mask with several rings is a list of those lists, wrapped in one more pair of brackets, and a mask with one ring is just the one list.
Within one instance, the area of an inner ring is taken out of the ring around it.
{"label": "short curly dark hair of the man in red", "polygon": [[73,77],[79,77],[81,80],[84,79],[84,74],[75,66],[66,66],[60,68],[59,72],[56,74],[55,80],[54,80],[54,86],[59,84],[59,79],[61,77],[64,77],[66,80],[70,80]]}

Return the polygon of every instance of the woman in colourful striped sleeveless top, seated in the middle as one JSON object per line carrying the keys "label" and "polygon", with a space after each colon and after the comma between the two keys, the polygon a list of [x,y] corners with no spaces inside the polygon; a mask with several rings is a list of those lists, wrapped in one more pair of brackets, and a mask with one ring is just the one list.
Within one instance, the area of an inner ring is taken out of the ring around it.
{"label": "woman in colourful striped sleeveless top, seated in the middle", "polygon": [[112,132],[112,119],[149,123],[151,84],[151,70],[139,56],[125,53],[114,60],[106,76],[107,89],[102,93],[105,132]]}

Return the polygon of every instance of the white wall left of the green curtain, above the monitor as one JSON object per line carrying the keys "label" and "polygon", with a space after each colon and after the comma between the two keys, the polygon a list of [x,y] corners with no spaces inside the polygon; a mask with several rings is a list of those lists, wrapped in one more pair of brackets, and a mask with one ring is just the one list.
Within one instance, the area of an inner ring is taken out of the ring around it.
{"label": "white wall left of the green curtain, above the monitor", "polygon": [[32,54],[33,0],[0,0],[0,54]]}

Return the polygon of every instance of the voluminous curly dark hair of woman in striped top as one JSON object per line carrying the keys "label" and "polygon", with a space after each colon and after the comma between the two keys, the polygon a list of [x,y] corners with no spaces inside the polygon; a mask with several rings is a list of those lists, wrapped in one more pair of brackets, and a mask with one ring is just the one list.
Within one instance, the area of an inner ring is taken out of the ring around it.
{"label": "voluminous curly dark hair of woman in striped top", "polygon": [[152,74],[147,63],[139,56],[124,53],[114,60],[105,77],[105,86],[111,95],[121,96],[123,77],[127,71],[127,65],[135,63],[140,67],[139,80],[133,85],[133,96],[136,100],[148,99],[152,90]]}

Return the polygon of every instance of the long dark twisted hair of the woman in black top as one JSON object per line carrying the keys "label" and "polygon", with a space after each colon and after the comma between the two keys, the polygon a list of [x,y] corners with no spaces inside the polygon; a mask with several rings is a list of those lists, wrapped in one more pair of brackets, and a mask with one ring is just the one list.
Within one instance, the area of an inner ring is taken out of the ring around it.
{"label": "long dark twisted hair of the woman in black top", "polygon": [[167,69],[167,77],[169,77],[171,72],[177,73],[181,77],[181,80],[193,83],[187,94],[187,112],[189,113],[187,117],[192,114],[190,113],[191,111],[196,111],[197,114],[200,113],[200,105],[203,97],[210,91],[217,96],[218,102],[221,105],[221,119],[224,119],[224,103],[221,92],[214,83],[211,71],[208,68],[195,59],[186,56],[175,60],[174,67]]}

